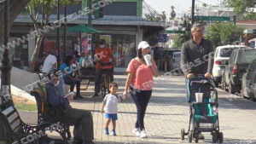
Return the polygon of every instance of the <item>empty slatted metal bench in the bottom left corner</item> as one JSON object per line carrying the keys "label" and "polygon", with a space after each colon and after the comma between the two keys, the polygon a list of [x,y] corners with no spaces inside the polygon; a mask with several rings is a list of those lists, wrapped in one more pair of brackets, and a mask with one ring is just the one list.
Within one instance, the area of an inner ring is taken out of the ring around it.
{"label": "empty slatted metal bench in the bottom left corner", "polygon": [[27,125],[20,119],[19,113],[13,106],[8,107],[3,112],[0,112],[0,118],[3,123],[5,143],[7,144],[65,143],[62,140],[50,139],[45,134],[47,130],[54,130],[52,129],[52,126],[55,124],[44,123],[37,126]]}

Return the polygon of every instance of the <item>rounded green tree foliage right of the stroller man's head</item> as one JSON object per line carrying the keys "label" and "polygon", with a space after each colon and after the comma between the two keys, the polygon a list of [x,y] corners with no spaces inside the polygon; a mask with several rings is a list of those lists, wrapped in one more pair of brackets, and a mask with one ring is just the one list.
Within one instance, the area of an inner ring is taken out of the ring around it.
{"label": "rounded green tree foliage right of the stroller man's head", "polygon": [[242,37],[244,27],[233,23],[215,23],[207,28],[206,39],[212,41],[213,47],[233,44]]}

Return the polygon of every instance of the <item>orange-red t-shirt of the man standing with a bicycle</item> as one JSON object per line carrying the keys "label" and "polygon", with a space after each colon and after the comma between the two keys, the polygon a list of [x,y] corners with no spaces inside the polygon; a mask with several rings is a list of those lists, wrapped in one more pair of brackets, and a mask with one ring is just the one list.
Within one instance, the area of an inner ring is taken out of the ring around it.
{"label": "orange-red t-shirt of the man standing with a bicycle", "polygon": [[[99,61],[101,61],[103,63],[108,63],[112,56],[112,50],[108,47],[105,47],[104,49],[97,48],[95,55],[98,56],[98,58],[100,59]],[[96,68],[106,69],[106,68],[112,68],[112,67],[113,66],[101,66],[100,63],[98,63],[98,62],[96,63]]]}

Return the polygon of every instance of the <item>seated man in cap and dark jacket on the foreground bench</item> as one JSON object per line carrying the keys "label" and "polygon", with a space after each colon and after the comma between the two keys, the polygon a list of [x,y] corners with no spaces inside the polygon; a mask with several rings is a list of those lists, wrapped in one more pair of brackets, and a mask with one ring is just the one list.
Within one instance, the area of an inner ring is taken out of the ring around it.
{"label": "seated man in cap and dark jacket on the foreground bench", "polygon": [[69,105],[69,101],[73,100],[73,95],[59,95],[55,86],[58,84],[60,78],[56,73],[58,70],[52,69],[49,71],[48,78],[50,83],[46,84],[47,99],[49,105],[56,107],[58,105],[65,105],[62,110],[65,116],[76,118],[76,124],[73,129],[73,144],[94,144],[94,132],[92,115],[89,111],[82,109],[75,109]]}

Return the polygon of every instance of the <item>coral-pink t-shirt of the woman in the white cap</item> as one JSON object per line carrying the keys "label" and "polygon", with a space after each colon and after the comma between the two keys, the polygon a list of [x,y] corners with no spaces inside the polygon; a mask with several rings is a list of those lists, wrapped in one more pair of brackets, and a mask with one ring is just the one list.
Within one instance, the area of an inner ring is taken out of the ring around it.
{"label": "coral-pink t-shirt of the woman in the white cap", "polygon": [[[153,60],[153,66],[157,68]],[[139,61],[132,59],[126,69],[126,72],[133,73],[131,86],[135,89],[151,90],[153,87],[153,71],[150,66],[141,64]]]}

